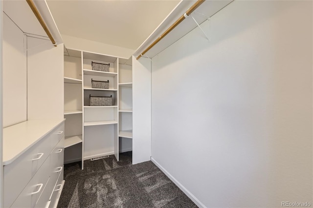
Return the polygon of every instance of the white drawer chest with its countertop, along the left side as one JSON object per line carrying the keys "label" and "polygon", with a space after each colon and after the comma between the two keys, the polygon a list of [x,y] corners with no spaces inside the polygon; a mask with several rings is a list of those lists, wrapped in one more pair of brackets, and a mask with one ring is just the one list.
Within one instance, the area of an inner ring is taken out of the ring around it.
{"label": "white drawer chest with its countertop, along the left side", "polygon": [[64,184],[63,150],[63,119],[4,128],[4,207],[56,207]]}

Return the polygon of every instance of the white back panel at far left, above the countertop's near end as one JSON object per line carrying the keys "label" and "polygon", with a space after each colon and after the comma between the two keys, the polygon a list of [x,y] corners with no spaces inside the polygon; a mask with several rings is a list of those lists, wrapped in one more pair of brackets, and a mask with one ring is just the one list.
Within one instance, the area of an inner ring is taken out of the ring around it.
{"label": "white back panel at far left, above the countertop's near end", "polygon": [[25,40],[20,28],[3,14],[3,127],[27,120]]}

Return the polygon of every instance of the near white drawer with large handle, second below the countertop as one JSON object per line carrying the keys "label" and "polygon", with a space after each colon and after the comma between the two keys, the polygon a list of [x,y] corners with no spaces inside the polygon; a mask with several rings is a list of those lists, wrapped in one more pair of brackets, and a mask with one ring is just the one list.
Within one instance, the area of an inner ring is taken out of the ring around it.
{"label": "near white drawer with large handle, second below the countertop", "polygon": [[35,207],[39,197],[42,195],[45,186],[49,181],[49,165],[50,158],[40,167],[34,177],[22,190],[22,193],[15,200],[12,208],[33,208]]}

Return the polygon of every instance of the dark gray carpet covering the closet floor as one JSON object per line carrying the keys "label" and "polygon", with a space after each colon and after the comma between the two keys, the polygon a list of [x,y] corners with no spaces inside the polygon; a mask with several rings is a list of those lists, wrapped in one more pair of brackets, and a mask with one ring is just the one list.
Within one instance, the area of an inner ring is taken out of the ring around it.
{"label": "dark gray carpet covering the closet floor", "polygon": [[58,208],[197,208],[151,161],[132,165],[132,152],[65,165]]}

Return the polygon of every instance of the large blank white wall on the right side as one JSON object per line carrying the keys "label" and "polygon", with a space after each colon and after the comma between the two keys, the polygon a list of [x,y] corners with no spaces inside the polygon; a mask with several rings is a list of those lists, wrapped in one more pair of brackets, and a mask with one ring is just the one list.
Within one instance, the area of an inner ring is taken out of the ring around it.
{"label": "large blank white wall on the right side", "polygon": [[312,204],[312,8],[233,1],[152,59],[152,160],[199,206]]}

